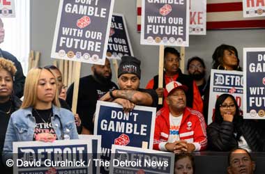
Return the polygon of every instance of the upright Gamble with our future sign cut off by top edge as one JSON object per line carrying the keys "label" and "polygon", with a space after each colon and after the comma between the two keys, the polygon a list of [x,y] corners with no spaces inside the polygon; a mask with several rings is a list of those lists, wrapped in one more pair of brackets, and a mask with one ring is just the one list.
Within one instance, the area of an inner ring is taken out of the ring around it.
{"label": "upright Gamble with our future sign cut off by top edge", "polygon": [[188,47],[190,1],[143,0],[142,45]]}

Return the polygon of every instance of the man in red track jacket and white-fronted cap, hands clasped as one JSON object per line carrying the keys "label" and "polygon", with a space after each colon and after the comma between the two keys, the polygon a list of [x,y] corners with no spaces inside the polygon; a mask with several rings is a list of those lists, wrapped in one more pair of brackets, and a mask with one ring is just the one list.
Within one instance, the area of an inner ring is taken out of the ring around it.
{"label": "man in red track jacket and white-fronted cap, hands clasped", "polygon": [[207,145],[204,116],[186,106],[188,87],[172,81],[166,89],[168,106],[156,114],[153,149],[175,153],[204,150]]}

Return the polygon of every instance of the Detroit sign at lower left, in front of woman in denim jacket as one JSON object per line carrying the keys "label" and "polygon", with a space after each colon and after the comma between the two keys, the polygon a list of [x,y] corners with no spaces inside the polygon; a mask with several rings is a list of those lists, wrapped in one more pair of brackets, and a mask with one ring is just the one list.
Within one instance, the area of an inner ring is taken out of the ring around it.
{"label": "Detroit sign at lower left, in front of woman in denim jacket", "polygon": [[92,173],[91,141],[13,143],[14,173]]}

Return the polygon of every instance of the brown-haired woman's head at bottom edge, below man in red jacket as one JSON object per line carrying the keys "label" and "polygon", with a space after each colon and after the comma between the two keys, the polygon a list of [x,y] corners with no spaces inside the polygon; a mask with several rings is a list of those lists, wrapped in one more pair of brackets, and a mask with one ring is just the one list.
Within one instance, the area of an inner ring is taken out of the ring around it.
{"label": "brown-haired woman's head at bottom edge, below man in red jacket", "polygon": [[195,173],[194,157],[190,153],[175,155],[174,174],[193,174]]}

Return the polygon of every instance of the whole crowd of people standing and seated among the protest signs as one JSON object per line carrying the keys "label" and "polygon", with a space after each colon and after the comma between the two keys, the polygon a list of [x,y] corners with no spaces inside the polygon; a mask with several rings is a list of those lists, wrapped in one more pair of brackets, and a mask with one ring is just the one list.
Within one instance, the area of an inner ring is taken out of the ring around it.
{"label": "whole crowd of people standing and seated among the protest signs", "polygon": [[[76,114],[70,109],[74,84],[66,94],[58,68],[53,65],[33,68],[24,77],[15,56],[0,49],[0,57],[0,152],[3,160],[12,157],[15,141],[52,142],[78,139],[78,133],[93,134],[98,100],[120,104],[124,112],[132,111],[135,105],[156,107],[153,149],[180,154],[176,156],[175,173],[194,173],[195,161],[187,152],[232,150],[227,172],[236,173],[234,164],[244,158],[248,158],[249,170],[254,171],[255,163],[249,152],[265,151],[263,122],[244,120],[233,95],[224,93],[218,97],[213,122],[206,125],[211,79],[206,80],[206,66],[198,56],[188,60],[188,74],[183,74],[179,68],[179,52],[166,47],[162,88],[158,88],[158,75],[146,88],[139,88],[141,61],[132,56],[121,58],[117,86],[112,81],[111,66],[106,58],[105,65],[93,65],[92,74],[79,80]],[[242,71],[233,46],[220,45],[212,57],[212,69]],[[22,96],[23,101],[20,100]],[[163,98],[160,105],[158,97]],[[245,154],[242,159],[234,157],[239,151]],[[3,166],[2,161],[0,165]]]}

